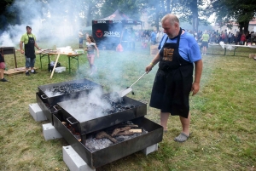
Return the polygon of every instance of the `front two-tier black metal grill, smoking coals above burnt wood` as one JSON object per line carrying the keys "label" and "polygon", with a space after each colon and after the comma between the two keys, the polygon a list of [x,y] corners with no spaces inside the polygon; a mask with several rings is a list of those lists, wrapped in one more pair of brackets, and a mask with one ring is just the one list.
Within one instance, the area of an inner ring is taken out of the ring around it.
{"label": "front two-tier black metal grill, smoking coals above burnt wood", "polygon": [[[147,114],[147,105],[126,96],[117,97],[116,94],[102,94],[101,100],[108,103],[107,107],[80,98],[57,103],[58,111],[53,114],[54,127],[90,168],[99,168],[162,140],[163,128],[144,117]],[[113,96],[116,98],[112,99]],[[88,109],[90,106],[95,110]],[[102,131],[108,133],[128,121],[146,132],[94,151],[85,145],[89,137],[96,137]],[[71,131],[67,125],[74,130]]]}

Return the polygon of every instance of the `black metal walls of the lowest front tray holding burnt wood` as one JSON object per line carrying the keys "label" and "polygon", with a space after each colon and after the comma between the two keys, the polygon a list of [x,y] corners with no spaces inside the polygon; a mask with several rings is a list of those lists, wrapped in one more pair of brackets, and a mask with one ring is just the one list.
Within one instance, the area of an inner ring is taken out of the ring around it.
{"label": "black metal walls of the lowest front tray holding burnt wood", "polygon": [[56,130],[92,169],[99,168],[137,151],[142,151],[148,146],[155,145],[163,140],[163,128],[159,124],[154,123],[145,117],[137,117],[136,119],[132,119],[131,122],[137,124],[139,127],[143,127],[148,131],[147,134],[92,152],[79,142],[70,130],[61,123],[63,120],[61,120],[60,112],[53,115],[53,120]]}

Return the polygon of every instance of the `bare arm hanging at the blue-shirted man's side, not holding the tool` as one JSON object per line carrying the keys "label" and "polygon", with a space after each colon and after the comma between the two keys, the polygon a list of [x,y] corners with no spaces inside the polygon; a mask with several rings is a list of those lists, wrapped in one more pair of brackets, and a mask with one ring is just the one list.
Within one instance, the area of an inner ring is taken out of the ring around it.
{"label": "bare arm hanging at the blue-shirted man's side, not holding the tool", "polygon": [[197,94],[200,88],[200,80],[201,80],[201,71],[202,71],[202,60],[197,60],[195,62],[195,80],[192,84],[191,91],[193,91],[192,95]]}

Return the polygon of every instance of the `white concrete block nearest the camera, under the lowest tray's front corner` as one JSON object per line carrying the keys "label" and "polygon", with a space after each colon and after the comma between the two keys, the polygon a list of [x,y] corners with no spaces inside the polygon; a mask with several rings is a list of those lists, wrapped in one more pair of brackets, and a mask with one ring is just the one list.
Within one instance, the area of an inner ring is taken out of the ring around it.
{"label": "white concrete block nearest the camera, under the lowest tray's front corner", "polygon": [[96,171],[90,168],[86,162],[73,150],[71,145],[62,146],[63,161],[70,171]]}

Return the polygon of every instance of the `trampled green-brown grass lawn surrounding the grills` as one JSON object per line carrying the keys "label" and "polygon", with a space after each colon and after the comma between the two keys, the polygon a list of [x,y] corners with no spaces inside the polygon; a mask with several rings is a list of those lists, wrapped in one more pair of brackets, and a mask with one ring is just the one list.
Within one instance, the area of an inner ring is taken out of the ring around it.
{"label": "trampled green-brown grass lawn surrounding the grills", "polygon": [[[50,48],[47,43],[40,47]],[[72,43],[75,44],[75,43]],[[77,45],[73,45],[75,48]],[[178,117],[170,117],[169,131],[159,144],[159,150],[148,156],[138,151],[128,157],[97,168],[97,171],[151,171],[151,170],[256,170],[256,61],[249,54],[254,49],[237,48],[233,51],[212,47],[203,55],[201,90],[190,97],[191,136],[185,143],[173,141],[181,131]],[[18,67],[25,60],[17,52]],[[131,86],[144,73],[145,66],[154,58],[148,49],[118,53],[101,51],[95,64],[98,71],[90,76],[85,54],[79,57],[79,70],[71,61],[68,73],[67,57],[61,56],[61,66],[67,71],[49,78],[48,59],[36,61],[38,74],[26,77],[18,74],[6,77],[9,83],[0,83],[0,170],[68,170],[62,158],[66,140],[44,140],[42,124],[29,113],[29,104],[36,103],[38,86],[67,80],[87,78],[111,92]],[[14,68],[12,55],[5,55],[8,68]],[[51,57],[54,60],[54,56]],[[157,66],[133,86],[135,100],[149,102]],[[160,111],[148,106],[146,117],[160,123]]]}

